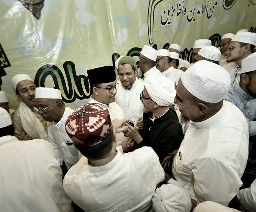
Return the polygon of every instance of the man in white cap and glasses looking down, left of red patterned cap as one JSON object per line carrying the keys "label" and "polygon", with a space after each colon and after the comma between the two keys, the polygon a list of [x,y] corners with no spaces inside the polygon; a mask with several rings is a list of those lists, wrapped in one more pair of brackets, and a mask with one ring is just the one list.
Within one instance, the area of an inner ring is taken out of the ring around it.
{"label": "man in white cap and glasses looking down, left of red patterned cap", "polygon": [[36,88],[35,104],[42,118],[51,122],[48,124],[49,141],[58,154],[64,175],[65,165],[69,169],[78,161],[78,151],[65,130],[66,120],[74,110],[65,106],[61,91],[54,88]]}

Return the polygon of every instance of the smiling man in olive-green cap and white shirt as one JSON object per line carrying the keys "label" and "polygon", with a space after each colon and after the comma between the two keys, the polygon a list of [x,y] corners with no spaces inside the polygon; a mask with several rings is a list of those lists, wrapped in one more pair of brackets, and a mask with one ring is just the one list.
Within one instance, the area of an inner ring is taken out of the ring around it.
{"label": "smiling man in olive-green cap and white shirt", "polygon": [[133,57],[125,56],[119,60],[118,87],[115,102],[122,108],[125,117],[132,116],[131,120],[136,122],[143,115],[143,104],[140,101],[140,93],[144,88],[144,82],[136,77],[138,69]]}

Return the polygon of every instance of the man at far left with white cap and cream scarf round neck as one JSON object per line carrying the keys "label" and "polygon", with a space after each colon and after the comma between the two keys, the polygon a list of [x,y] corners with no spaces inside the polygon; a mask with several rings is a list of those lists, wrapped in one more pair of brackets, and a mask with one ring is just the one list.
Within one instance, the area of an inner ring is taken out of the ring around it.
{"label": "man at far left with white cap and cream scarf round neck", "polygon": [[20,106],[12,114],[14,135],[20,140],[48,139],[47,123],[35,108],[35,83],[27,74],[17,74],[11,79]]}

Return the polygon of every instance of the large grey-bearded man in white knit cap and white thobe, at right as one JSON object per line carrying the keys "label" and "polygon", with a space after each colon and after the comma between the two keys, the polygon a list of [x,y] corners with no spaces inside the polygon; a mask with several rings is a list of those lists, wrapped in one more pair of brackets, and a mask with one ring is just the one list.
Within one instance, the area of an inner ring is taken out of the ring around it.
{"label": "large grey-bearded man in white knit cap and white thobe, at right", "polygon": [[227,206],[243,184],[248,158],[248,126],[243,113],[223,101],[230,76],[221,66],[201,60],[188,68],[177,86],[175,103],[191,120],[173,159],[172,174],[190,186],[197,203]]}

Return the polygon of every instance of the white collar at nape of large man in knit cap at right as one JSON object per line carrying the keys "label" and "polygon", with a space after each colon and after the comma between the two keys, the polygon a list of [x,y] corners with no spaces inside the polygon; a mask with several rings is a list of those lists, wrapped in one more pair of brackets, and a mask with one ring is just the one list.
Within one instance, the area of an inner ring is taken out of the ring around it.
{"label": "white collar at nape of large man in knit cap at right", "polygon": [[197,126],[197,128],[199,129],[208,129],[208,128],[211,128],[212,126],[215,126],[221,121],[222,117],[225,115],[225,104],[226,104],[225,101],[223,101],[222,108],[209,119],[206,119],[201,122],[191,121],[191,123],[195,124],[195,126]]}

